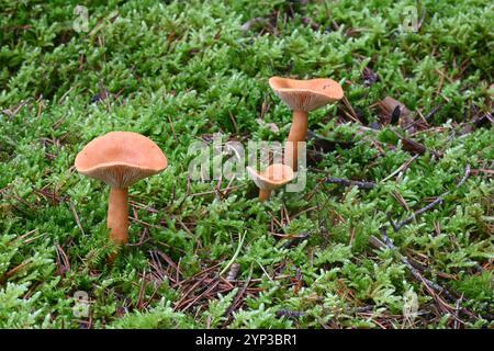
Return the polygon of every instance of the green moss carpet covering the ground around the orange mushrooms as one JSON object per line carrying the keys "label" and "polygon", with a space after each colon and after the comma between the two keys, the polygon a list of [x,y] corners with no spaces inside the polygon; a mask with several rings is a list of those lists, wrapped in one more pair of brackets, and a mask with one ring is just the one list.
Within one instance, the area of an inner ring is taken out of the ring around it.
{"label": "green moss carpet covering the ground around the orange mushrooms", "polygon": [[[77,4],[87,32],[72,27]],[[406,5],[418,5],[418,32],[402,27]],[[0,327],[492,327],[493,10],[487,0],[2,0]],[[188,182],[193,141],[285,139],[291,112],[269,89],[274,75],[340,81],[348,104],[314,112],[310,129],[355,146],[323,152],[305,191],[265,204],[246,179]],[[386,95],[420,122],[363,131],[385,120],[375,103]],[[170,165],[131,189],[130,245],[113,265],[108,189],[72,167],[110,131],[150,137]],[[447,191],[393,230],[388,216]],[[382,228],[395,248],[371,245]],[[238,276],[218,280],[244,235]],[[89,317],[75,316],[78,291]],[[414,319],[403,316],[412,293]]]}

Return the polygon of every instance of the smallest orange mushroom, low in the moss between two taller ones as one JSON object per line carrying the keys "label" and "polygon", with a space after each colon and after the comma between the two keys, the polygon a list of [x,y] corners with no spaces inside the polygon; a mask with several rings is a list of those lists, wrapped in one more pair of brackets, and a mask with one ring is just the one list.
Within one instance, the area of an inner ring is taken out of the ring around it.
{"label": "smallest orange mushroom, low in the moss between two taller ones", "polygon": [[295,178],[292,168],[282,163],[268,166],[262,172],[258,172],[251,167],[247,167],[247,171],[259,188],[260,202],[268,200],[272,190],[291,182]]}

